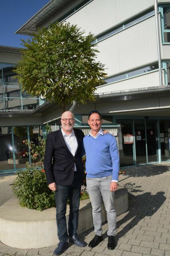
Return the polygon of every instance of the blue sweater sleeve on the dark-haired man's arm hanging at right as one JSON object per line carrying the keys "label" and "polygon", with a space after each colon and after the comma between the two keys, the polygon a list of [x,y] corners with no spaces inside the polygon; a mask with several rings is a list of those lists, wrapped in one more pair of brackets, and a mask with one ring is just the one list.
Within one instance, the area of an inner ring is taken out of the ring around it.
{"label": "blue sweater sleeve on the dark-haired man's arm hanging at right", "polygon": [[117,141],[114,136],[111,138],[109,151],[110,151],[112,167],[113,167],[112,180],[118,181],[120,161],[119,161],[119,152],[118,152],[118,147],[117,147]]}

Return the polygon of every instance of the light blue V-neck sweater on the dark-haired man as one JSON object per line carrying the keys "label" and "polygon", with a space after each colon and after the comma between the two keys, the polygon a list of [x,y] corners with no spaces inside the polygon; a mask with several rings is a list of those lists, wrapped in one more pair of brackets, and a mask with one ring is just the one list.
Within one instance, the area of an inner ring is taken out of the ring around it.
{"label": "light blue V-neck sweater on the dark-haired man", "polygon": [[96,139],[86,135],[83,143],[87,177],[102,178],[112,175],[112,180],[118,180],[119,153],[115,137],[109,133],[100,134]]}

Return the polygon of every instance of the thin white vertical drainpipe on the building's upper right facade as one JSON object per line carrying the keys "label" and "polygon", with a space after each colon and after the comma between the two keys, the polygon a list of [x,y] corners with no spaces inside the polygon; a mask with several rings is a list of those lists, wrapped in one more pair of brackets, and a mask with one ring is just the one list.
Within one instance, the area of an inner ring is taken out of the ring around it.
{"label": "thin white vertical drainpipe on the building's upper right facade", "polygon": [[155,12],[156,39],[157,39],[157,50],[158,50],[159,84],[161,86],[161,85],[163,85],[163,80],[162,80],[162,70],[161,70],[160,35],[159,35],[159,26],[158,26],[158,6],[157,6],[157,0],[154,0],[154,12]]}

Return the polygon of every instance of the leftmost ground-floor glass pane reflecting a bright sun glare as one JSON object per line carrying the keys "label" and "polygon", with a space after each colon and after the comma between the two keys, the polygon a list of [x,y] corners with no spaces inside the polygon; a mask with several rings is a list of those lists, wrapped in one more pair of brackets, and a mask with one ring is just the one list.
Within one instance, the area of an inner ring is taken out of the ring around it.
{"label": "leftmost ground-floor glass pane reflecting a bright sun glare", "polygon": [[11,127],[0,127],[0,170],[14,169]]}

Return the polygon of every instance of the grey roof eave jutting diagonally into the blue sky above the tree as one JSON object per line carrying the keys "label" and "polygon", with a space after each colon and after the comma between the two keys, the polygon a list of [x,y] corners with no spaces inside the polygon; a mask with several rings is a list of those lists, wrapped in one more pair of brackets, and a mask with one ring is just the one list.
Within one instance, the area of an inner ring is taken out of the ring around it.
{"label": "grey roof eave jutting diagonally into the blue sky above the tree", "polygon": [[35,34],[37,28],[41,26],[45,21],[52,18],[59,13],[67,4],[72,0],[51,0],[41,10],[39,10],[34,16],[32,16],[21,28],[16,31],[16,34]]}

